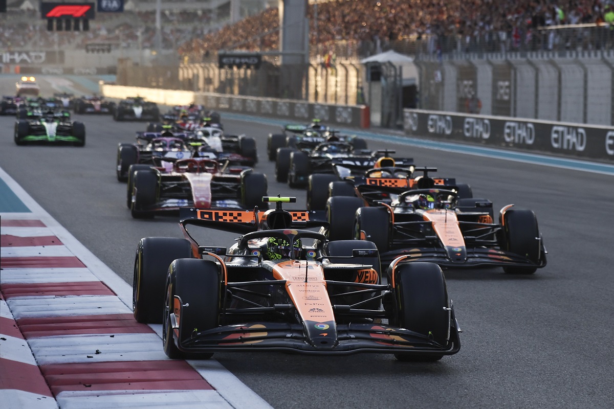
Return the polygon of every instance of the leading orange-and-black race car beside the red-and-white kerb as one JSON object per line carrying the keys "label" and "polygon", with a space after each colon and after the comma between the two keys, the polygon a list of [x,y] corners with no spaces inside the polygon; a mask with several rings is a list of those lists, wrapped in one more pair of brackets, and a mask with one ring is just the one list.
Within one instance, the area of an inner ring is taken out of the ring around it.
{"label": "leading orange-and-black race car beside the red-and-white kerb", "polygon": [[[185,239],[139,242],[134,317],[162,324],[169,357],[285,351],[438,361],[459,351],[460,329],[437,264],[395,264],[383,284],[373,243],[329,242],[309,230],[325,221],[282,209],[295,198],[263,199],[276,208],[186,209]],[[202,227],[241,236],[230,248],[203,247],[192,235]]]}

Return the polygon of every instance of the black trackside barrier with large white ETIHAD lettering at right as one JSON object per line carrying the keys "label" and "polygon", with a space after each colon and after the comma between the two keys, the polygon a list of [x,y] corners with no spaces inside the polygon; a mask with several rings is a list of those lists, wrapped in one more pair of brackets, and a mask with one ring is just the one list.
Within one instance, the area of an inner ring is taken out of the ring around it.
{"label": "black trackside barrier with large white ETIHAD lettering at right", "polygon": [[405,109],[403,129],[412,137],[614,161],[612,126]]}

